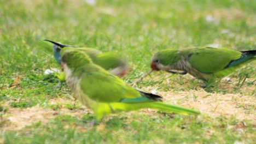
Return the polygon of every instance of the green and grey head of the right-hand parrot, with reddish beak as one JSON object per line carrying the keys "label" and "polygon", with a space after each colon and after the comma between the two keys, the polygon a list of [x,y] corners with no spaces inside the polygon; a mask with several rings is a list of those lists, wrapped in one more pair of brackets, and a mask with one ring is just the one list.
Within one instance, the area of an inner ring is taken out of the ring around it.
{"label": "green and grey head of the right-hand parrot, with reddish beak", "polygon": [[151,68],[153,70],[169,70],[170,65],[176,62],[177,59],[176,49],[167,49],[158,51],[154,54],[151,61]]}

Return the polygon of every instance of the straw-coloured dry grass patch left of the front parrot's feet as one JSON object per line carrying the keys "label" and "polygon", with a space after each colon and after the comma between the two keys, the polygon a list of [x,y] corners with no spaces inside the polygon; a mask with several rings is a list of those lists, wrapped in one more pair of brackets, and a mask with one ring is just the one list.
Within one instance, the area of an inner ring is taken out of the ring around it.
{"label": "straw-coloured dry grass patch left of the front parrot's feet", "polygon": [[[48,123],[49,119],[56,117],[57,115],[71,115],[71,116],[82,116],[88,112],[88,109],[76,109],[69,110],[62,108],[65,104],[73,104],[74,101],[71,99],[51,99],[50,104],[61,104],[61,109],[52,110],[44,109],[43,107],[33,106],[26,109],[13,108],[8,106],[8,112],[5,113],[2,121],[5,121],[3,125],[4,131],[20,130],[32,123],[41,122],[43,124]],[[79,102],[76,103],[79,105]]]}

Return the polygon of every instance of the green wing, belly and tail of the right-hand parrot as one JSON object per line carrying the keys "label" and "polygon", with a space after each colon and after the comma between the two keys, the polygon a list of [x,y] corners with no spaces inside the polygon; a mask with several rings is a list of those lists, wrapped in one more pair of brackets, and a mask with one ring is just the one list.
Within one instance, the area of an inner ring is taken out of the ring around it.
{"label": "green wing, belly and tail of the right-hand parrot", "polygon": [[214,77],[226,76],[242,65],[253,61],[255,53],[255,50],[240,52],[212,47],[198,49],[189,57],[189,62],[195,69],[190,73],[199,79],[213,81]]}

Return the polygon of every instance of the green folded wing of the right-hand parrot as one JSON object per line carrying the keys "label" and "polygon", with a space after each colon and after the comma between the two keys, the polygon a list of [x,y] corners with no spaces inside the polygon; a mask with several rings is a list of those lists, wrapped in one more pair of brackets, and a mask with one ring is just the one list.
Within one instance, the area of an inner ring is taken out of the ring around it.
{"label": "green folded wing of the right-hand parrot", "polygon": [[231,49],[206,47],[191,54],[189,62],[202,73],[215,73],[223,70],[231,61],[240,58],[241,52]]}

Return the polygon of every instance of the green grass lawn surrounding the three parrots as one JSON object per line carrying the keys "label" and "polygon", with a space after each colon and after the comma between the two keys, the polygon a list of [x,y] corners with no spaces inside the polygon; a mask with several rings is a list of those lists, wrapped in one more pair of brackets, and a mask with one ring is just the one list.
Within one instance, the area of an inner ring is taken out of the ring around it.
{"label": "green grass lawn surrounding the three parrots", "polygon": [[[213,21],[206,21],[210,15]],[[212,103],[216,107],[211,112],[197,117],[123,112],[92,126],[88,121],[94,119],[93,113],[74,106],[68,87],[54,89],[57,77],[44,74],[59,65],[51,45],[42,41],[126,53],[132,70],[124,80],[130,83],[150,69],[150,58],[158,50],[208,44],[255,50],[255,19],[256,3],[249,0],[109,0],[96,1],[94,6],[69,0],[0,2],[0,143],[255,143],[255,119],[247,117],[255,116],[255,105],[248,104],[256,96],[255,61],[232,73],[231,82],[222,81],[207,92],[200,88],[200,80],[164,72],[155,72],[136,85],[175,98],[183,95],[176,102],[188,107],[191,99],[218,101],[231,95],[231,106],[234,111],[244,110],[243,118],[212,116],[220,105]],[[19,85],[11,87],[17,76]],[[52,113],[46,121],[35,119],[15,129],[10,117],[19,113],[13,112],[33,109]]]}

